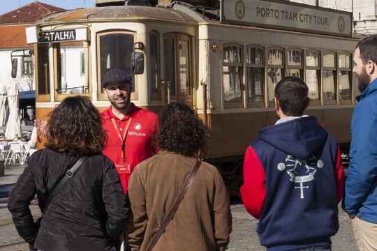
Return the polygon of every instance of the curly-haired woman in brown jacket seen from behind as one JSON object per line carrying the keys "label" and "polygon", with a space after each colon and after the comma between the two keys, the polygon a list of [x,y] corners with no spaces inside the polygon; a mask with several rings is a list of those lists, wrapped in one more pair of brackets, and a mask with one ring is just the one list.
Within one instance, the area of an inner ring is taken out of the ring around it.
{"label": "curly-haired woman in brown jacket seen from behind", "polygon": [[[131,250],[147,250],[209,139],[208,128],[184,103],[170,103],[159,126],[161,151],[141,162],[128,184],[132,213],[126,232]],[[202,162],[153,250],[225,250],[231,230],[223,180],[216,167]]]}

